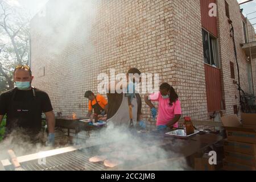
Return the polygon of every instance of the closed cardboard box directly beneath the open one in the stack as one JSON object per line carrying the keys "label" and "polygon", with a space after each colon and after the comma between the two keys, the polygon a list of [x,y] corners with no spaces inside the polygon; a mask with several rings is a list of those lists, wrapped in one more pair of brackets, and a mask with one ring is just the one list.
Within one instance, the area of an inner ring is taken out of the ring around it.
{"label": "closed cardboard box directly beneath the open one in the stack", "polygon": [[248,154],[248,155],[256,155],[256,144],[225,140],[224,151],[237,152],[237,153]]}

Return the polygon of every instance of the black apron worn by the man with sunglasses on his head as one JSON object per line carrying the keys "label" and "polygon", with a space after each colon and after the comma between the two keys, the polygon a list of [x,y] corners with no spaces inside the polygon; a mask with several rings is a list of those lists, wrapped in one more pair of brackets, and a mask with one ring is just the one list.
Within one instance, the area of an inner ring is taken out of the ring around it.
{"label": "black apron worn by the man with sunglasses on his head", "polygon": [[36,97],[35,88],[32,88],[32,99],[26,102],[15,101],[17,92],[18,89],[15,88],[7,113],[6,137],[14,130],[20,130],[30,137],[35,137],[42,129],[42,108]]}

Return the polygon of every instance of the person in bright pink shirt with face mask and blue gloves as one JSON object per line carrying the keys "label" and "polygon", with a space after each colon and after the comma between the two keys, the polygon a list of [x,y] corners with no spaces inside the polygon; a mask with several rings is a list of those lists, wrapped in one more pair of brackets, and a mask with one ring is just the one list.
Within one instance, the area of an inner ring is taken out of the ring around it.
{"label": "person in bright pink shirt with face mask and blue gloves", "polygon": [[[160,91],[147,95],[144,98],[146,104],[150,106],[151,114],[153,118],[156,118],[158,112],[158,117],[156,121],[156,126],[158,130],[164,130],[168,127],[177,128],[178,121],[181,117],[181,106],[177,93],[174,88],[167,83],[160,85]],[[152,101],[159,102],[159,109],[156,110]]]}

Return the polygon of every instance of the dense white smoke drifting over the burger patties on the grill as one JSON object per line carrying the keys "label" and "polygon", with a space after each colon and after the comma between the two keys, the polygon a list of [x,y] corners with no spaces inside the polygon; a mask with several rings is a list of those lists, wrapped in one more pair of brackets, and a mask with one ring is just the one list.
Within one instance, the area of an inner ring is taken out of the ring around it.
{"label": "dense white smoke drifting over the burger patties on the grill", "polygon": [[[179,141],[179,142],[177,142]],[[75,143],[78,140],[74,140]],[[81,141],[77,144],[84,144]],[[177,153],[175,148],[179,148],[184,143],[172,138],[154,136],[152,134],[139,134],[137,131],[131,131],[123,127],[108,127],[100,132],[92,133],[91,138],[86,140],[88,146],[100,146],[102,149],[109,149],[111,152],[100,152],[106,155],[108,159],[117,159],[122,164],[118,170],[136,170],[136,171],[183,171],[189,170],[187,160]],[[86,148],[85,148],[86,150]],[[123,159],[123,155],[135,156],[133,160]]]}

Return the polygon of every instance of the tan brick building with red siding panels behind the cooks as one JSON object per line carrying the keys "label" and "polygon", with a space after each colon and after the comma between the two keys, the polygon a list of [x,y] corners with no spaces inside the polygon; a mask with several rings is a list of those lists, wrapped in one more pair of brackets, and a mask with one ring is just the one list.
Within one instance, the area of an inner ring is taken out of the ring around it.
{"label": "tan brick building with red siding panels behind the cooks", "polygon": [[[210,3],[216,3],[217,16],[209,16]],[[241,46],[245,18],[236,0],[50,0],[31,20],[34,86],[48,92],[56,112],[82,117],[88,108],[84,92],[97,92],[98,74],[137,67],[174,86],[184,115],[206,120],[214,111],[236,113],[240,97],[229,18],[241,87],[256,93],[256,60],[248,65]],[[143,114],[150,114],[144,102]]]}

